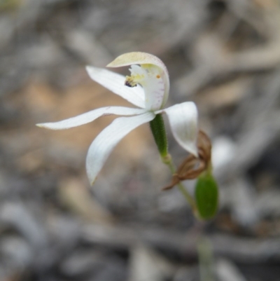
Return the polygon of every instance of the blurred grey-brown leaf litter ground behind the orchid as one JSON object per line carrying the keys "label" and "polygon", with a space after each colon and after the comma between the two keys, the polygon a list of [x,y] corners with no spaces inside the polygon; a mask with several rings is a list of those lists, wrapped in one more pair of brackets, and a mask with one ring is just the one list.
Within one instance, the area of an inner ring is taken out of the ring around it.
{"label": "blurred grey-brown leaf litter ground behind the orchid", "polygon": [[[279,30],[279,0],[0,0],[0,280],[280,280]],[[161,191],[171,175],[148,125],[92,188],[87,149],[114,117],[35,126],[129,105],[85,65],[130,51],[165,62],[167,105],[197,104],[221,189],[212,221]]]}

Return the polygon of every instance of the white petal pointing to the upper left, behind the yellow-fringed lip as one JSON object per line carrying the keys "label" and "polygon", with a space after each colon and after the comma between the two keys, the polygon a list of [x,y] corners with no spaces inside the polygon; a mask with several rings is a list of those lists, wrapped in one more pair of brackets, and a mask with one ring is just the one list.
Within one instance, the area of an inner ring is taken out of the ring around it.
{"label": "white petal pointing to the upper left, behind the yellow-fringed lip", "polygon": [[145,108],[144,90],[137,86],[134,88],[125,85],[125,76],[97,67],[86,67],[87,73],[95,82],[103,85],[116,95],[123,97],[137,107]]}

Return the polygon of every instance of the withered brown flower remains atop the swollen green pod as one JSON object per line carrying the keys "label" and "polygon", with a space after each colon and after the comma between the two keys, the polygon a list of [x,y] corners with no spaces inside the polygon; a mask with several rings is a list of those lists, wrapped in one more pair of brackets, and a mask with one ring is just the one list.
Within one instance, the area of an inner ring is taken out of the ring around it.
{"label": "withered brown flower remains atop the swollen green pod", "polygon": [[211,166],[211,140],[205,132],[200,130],[197,137],[198,158],[190,154],[179,166],[172,182],[162,190],[172,189],[180,181],[196,179],[202,172]]}

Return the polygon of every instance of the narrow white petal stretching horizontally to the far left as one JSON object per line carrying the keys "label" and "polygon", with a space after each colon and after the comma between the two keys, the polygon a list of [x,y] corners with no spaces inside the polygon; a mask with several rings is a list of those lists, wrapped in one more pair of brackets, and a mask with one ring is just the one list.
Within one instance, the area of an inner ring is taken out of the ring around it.
{"label": "narrow white petal stretching horizontally to the far left", "polygon": [[111,114],[139,115],[139,114],[143,114],[144,112],[146,112],[145,109],[132,109],[129,107],[101,107],[99,109],[94,109],[92,111],[85,112],[84,114],[80,114],[78,116],[66,120],[62,120],[59,122],[41,123],[36,125],[38,127],[52,129],[52,130],[64,130],[64,129],[69,129],[69,128],[90,123],[101,116],[106,116]]}

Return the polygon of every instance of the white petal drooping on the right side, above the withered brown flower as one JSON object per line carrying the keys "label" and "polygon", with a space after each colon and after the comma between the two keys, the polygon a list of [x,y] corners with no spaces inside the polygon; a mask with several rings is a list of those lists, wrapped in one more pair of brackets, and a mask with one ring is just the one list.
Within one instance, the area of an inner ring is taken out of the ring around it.
{"label": "white petal drooping on the right side, above the withered brown flower", "polygon": [[162,109],[165,112],[176,141],[184,149],[197,156],[197,107],[194,102],[183,102]]}

